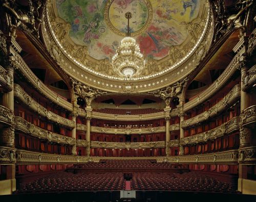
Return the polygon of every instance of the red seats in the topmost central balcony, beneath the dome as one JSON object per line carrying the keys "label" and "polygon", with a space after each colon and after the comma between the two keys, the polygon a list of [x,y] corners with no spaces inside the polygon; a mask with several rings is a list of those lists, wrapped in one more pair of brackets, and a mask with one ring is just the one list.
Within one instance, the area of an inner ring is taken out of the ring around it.
{"label": "red seats in the topmost central balcony, beneath the dome", "polygon": [[106,114],[151,114],[156,112],[161,112],[163,110],[148,108],[148,109],[138,109],[138,110],[127,110],[127,109],[98,109],[96,112],[106,113]]}

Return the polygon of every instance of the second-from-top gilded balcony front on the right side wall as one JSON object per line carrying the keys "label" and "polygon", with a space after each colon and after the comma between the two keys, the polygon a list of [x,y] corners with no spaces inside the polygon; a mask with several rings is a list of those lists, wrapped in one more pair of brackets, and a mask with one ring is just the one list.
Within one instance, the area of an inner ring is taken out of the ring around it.
{"label": "second-from-top gilded balcony front on the right side wall", "polygon": [[216,105],[206,110],[205,112],[184,120],[181,122],[181,127],[186,128],[191,125],[196,125],[200,122],[206,121],[209,118],[217,116],[223,110],[227,109],[230,105],[232,105],[241,95],[241,85],[238,84],[232,88],[231,91],[227,95],[225,95]]}

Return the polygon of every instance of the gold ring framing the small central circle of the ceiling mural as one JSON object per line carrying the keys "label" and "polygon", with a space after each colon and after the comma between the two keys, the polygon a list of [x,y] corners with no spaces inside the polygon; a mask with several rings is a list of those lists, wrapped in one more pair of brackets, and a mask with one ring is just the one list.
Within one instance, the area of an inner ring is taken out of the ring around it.
{"label": "gold ring framing the small central circle of the ceiling mural", "polygon": [[[120,32],[111,23],[111,20],[110,20],[110,17],[109,17],[109,9],[110,9],[110,6],[111,6],[113,1],[114,0],[108,0],[105,4],[105,8],[104,8],[105,22],[106,22],[106,24],[108,24],[108,26],[109,26],[109,28],[111,29],[112,32],[114,32],[114,33],[116,33],[120,36],[126,36],[126,33]],[[153,19],[153,8],[152,8],[152,5],[151,5],[150,1],[149,0],[143,0],[143,2],[145,3],[145,5],[147,7],[147,20],[146,20],[146,23],[144,24],[144,26],[140,30],[131,33],[132,37],[143,33],[147,29],[148,25],[151,23],[151,21]]]}

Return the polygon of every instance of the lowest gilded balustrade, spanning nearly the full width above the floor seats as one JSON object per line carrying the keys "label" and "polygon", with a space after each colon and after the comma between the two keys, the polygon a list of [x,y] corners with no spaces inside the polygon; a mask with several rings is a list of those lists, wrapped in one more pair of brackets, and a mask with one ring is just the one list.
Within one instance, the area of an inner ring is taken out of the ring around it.
{"label": "lowest gilded balustrade, spanning nearly the full width above the floor seats", "polygon": [[[1,148],[0,148],[1,149]],[[26,150],[16,150],[16,163],[17,164],[76,164],[87,162],[99,162],[101,159],[112,160],[130,160],[130,159],[149,159],[157,160],[157,162],[169,162],[173,164],[181,163],[201,163],[201,164],[238,164],[238,151],[229,150],[214,154],[204,155],[191,155],[191,156],[175,156],[175,157],[80,157],[80,156],[65,156],[65,155],[53,155],[30,152]]]}

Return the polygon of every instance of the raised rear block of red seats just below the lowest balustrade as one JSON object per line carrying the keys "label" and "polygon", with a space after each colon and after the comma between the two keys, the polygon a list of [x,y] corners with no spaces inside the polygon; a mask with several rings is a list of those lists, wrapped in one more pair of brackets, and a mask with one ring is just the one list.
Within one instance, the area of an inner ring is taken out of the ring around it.
{"label": "raised rear block of red seats just below the lowest balustrade", "polygon": [[113,168],[113,169],[145,169],[145,168],[159,168],[159,169],[169,169],[169,168],[184,168],[181,165],[174,165],[168,162],[157,163],[151,160],[104,160],[99,163],[88,162],[85,164],[74,165],[74,168]]}

